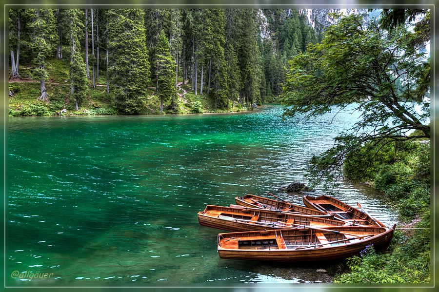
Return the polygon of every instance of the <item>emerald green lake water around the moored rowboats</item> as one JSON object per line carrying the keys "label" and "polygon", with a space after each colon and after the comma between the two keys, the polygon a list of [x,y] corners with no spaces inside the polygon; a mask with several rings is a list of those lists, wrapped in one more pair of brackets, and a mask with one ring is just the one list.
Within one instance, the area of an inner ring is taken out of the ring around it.
{"label": "emerald green lake water around the moored rowboats", "polygon": [[[330,281],[337,263],[220,259],[223,231],[198,224],[206,204],[306,183],[307,161],[358,117],[305,123],[281,114],[267,105],[241,114],[9,118],[6,275],[53,273],[38,281],[64,286]],[[300,195],[275,194],[302,205]],[[387,226],[396,221],[367,186],[343,182],[336,197]]]}

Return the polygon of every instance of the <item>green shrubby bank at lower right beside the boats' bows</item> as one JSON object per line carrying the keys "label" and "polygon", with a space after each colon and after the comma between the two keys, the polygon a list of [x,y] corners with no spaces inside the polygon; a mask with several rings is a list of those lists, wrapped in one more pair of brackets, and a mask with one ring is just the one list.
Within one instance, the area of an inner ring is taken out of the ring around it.
{"label": "green shrubby bank at lower right beside the boats' bows", "polygon": [[384,148],[378,156],[364,155],[367,169],[365,163],[348,159],[346,175],[372,180],[374,188],[394,204],[399,224],[387,252],[376,253],[371,247],[361,256],[348,259],[344,273],[339,273],[334,282],[429,283],[430,142],[399,142]]}

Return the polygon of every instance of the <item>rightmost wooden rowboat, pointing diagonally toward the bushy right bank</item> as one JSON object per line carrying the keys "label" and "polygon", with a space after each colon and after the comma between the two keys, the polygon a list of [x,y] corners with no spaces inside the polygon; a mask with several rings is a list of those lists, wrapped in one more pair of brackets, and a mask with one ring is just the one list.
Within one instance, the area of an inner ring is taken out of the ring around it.
{"label": "rightmost wooden rowboat, pointing diagonally toward the bushy right bank", "polygon": [[[303,196],[303,203],[308,208],[333,214],[334,219],[348,222],[351,225],[386,227],[383,223],[379,222],[366,212],[362,212],[359,209],[354,208],[331,196],[321,195],[314,197],[305,195]],[[361,205],[359,206],[361,207]]]}

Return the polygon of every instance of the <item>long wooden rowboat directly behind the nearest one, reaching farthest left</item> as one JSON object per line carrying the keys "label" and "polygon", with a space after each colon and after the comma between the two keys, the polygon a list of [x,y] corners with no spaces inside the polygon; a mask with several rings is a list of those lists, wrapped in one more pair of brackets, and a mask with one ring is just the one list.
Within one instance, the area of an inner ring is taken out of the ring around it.
{"label": "long wooden rowboat directly behind the nearest one, reaching farthest left", "polygon": [[200,225],[227,231],[254,231],[347,225],[346,222],[325,217],[282,213],[258,208],[232,208],[207,205],[198,213]]}

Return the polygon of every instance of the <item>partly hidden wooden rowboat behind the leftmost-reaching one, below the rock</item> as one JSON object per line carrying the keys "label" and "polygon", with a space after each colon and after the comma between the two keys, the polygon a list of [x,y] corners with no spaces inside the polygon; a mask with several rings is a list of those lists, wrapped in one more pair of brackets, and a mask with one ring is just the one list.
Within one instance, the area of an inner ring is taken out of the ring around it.
{"label": "partly hidden wooden rowboat behind the leftmost-reaching one, below the rock", "polygon": [[308,215],[321,215],[321,216],[331,216],[326,212],[321,212],[314,208],[306,208],[299,205],[294,205],[288,202],[282,202],[275,199],[266,198],[259,195],[244,195],[235,197],[235,202],[238,205],[250,207],[250,208],[260,208],[260,209],[268,209],[273,211],[281,211],[281,212],[292,212],[292,213],[300,213],[300,214],[308,214]]}

